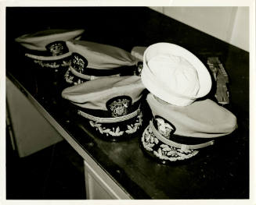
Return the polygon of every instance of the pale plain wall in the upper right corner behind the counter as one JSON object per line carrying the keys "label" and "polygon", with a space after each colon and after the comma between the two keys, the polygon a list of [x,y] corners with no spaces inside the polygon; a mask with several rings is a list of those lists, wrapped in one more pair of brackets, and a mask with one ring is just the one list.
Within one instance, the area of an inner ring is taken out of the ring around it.
{"label": "pale plain wall in the upper right corner behind the counter", "polygon": [[249,51],[249,7],[150,7],[173,19]]}

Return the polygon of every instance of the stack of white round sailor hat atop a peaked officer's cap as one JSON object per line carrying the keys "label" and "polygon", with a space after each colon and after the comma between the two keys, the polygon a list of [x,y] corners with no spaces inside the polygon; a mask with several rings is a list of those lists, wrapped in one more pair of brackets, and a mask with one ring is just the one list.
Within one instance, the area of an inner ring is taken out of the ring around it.
{"label": "stack of white round sailor hat atop a peaked officer's cap", "polygon": [[[219,136],[236,129],[236,117],[209,99],[211,76],[185,48],[158,43],[143,55],[142,83],[153,119],[142,134],[142,150],[166,163],[196,156]],[[197,101],[196,101],[197,100]]]}

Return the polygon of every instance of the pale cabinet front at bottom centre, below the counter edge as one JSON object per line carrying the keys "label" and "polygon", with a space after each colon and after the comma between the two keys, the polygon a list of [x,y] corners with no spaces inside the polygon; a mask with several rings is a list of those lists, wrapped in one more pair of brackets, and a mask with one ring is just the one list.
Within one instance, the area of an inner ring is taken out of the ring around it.
{"label": "pale cabinet front at bottom centre, below the counter edge", "polygon": [[131,200],[120,186],[95,161],[86,160],[85,188],[87,200]]}

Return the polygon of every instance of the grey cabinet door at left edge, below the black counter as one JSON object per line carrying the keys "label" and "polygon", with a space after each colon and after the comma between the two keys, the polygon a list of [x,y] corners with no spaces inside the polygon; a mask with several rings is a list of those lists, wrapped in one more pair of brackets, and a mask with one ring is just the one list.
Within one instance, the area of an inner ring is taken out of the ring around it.
{"label": "grey cabinet door at left edge, below the black counter", "polygon": [[56,129],[8,78],[6,97],[13,138],[20,157],[26,157],[63,140]]}

